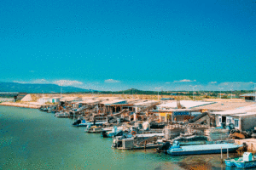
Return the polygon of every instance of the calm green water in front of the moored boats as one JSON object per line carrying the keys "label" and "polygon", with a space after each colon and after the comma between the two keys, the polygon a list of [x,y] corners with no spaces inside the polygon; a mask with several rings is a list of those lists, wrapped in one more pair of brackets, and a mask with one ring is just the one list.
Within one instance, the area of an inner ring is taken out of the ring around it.
{"label": "calm green water in front of the moored boats", "polygon": [[0,169],[225,169],[220,156],[167,156],[114,150],[112,139],[84,133],[73,120],[0,106]]}

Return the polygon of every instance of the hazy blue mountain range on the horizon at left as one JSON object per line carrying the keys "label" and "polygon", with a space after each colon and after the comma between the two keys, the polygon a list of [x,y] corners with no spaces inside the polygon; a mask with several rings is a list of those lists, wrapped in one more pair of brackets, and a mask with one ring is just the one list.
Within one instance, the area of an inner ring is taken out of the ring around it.
{"label": "hazy blue mountain range on the horizon at left", "polygon": [[23,92],[23,93],[79,93],[90,92],[91,90],[83,88],[74,88],[70,86],[60,86],[55,84],[30,84],[18,82],[0,82],[0,92]]}

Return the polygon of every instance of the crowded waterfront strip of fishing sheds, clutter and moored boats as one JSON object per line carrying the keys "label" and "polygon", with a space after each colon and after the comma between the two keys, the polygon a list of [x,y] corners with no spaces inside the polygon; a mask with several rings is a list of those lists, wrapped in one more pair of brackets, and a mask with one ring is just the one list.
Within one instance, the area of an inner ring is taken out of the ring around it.
{"label": "crowded waterfront strip of fishing sheds, clutter and moored boats", "polygon": [[[53,97],[1,105],[37,108],[56,117],[71,118],[73,126],[85,127],[86,133],[112,138],[112,147],[119,150],[157,149],[173,156],[219,154],[241,147],[256,151],[256,123],[252,121],[256,105],[249,102],[95,96]],[[177,142],[178,147],[173,149]]]}

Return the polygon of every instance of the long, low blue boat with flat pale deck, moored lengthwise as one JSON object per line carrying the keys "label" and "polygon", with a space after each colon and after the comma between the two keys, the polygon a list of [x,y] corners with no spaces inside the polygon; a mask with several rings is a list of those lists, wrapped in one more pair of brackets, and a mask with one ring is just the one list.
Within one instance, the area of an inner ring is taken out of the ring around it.
{"label": "long, low blue boat with flat pale deck, moored lengthwise", "polygon": [[242,144],[197,144],[189,146],[180,146],[178,141],[175,141],[167,153],[172,156],[183,155],[203,155],[203,154],[219,154],[235,151],[242,147]]}

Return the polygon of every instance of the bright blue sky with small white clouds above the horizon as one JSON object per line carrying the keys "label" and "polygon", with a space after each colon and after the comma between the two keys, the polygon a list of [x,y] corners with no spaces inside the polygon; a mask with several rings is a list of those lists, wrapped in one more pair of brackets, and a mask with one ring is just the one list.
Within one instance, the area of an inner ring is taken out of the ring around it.
{"label": "bright blue sky with small white clouds above the horizon", "polygon": [[1,1],[0,81],[253,89],[256,2]]}

